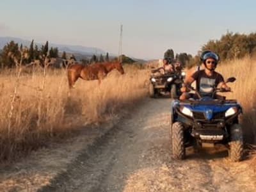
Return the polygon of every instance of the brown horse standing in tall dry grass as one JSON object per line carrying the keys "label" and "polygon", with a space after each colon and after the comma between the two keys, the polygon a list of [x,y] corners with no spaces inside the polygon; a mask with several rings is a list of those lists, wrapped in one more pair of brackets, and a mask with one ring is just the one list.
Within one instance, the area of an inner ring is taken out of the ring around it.
{"label": "brown horse standing in tall dry grass", "polygon": [[100,83],[102,79],[114,68],[116,68],[121,74],[124,74],[122,63],[118,61],[95,63],[86,66],[78,63],[70,65],[70,67],[67,68],[69,87],[72,88],[79,77],[88,81],[98,79]]}

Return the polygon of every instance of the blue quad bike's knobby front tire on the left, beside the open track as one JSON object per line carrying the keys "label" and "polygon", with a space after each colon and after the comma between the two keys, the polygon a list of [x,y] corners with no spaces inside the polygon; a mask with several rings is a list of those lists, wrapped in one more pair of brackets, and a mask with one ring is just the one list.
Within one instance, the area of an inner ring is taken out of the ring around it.
{"label": "blue quad bike's knobby front tire on the left, beside the open track", "polygon": [[180,122],[170,125],[170,139],[172,140],[172,156],[175,159],[185,159],[184,126]]}

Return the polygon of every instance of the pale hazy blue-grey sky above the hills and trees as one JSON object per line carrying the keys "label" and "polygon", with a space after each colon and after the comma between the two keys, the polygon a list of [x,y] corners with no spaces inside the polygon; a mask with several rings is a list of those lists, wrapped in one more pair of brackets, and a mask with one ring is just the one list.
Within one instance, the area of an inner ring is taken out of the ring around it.
{"label": "pale hazy blue-grey sky above the hills and trees", "polygon": [[0,36],[99,47],[118,54],[120,24],[122,50],[128,56],[157,59],[169,48],[194,55],[227,30],[255,32],[256,1],[0,1]]}

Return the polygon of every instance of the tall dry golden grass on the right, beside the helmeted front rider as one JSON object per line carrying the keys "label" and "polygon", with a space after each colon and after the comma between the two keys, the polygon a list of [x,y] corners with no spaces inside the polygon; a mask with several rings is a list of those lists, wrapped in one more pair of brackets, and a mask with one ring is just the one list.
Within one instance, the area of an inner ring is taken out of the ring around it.
{"label": "tall dry golden grass on the right, beside the helmeted front rider", "polygon": [[227,61],[218,66],[217,71],[225,78],[236,77],[234,83],[228,84],[232,93],[227,93],[227,97],[241,103],[244,134],[248,142],[256,143],[256,60],[246,57]]}

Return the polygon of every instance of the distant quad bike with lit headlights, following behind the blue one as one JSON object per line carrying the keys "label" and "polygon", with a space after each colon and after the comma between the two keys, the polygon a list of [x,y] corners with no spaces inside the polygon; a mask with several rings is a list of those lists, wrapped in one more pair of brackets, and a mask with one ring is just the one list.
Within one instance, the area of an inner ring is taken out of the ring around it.
{"label": "distant quad bike with lit headlights, following behind the blue one", "polygon": [[172,73],[160,74],[159,70],[163,68],[152,70],[149,84],[149,96],[156,98],[160,95],[170,95],[175,99],[179,97],[180,88],[185,77],[185,72],[177,71]]}

